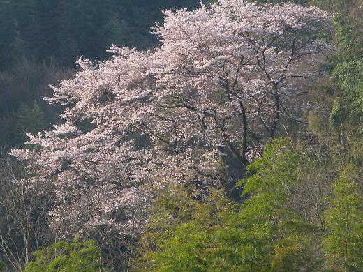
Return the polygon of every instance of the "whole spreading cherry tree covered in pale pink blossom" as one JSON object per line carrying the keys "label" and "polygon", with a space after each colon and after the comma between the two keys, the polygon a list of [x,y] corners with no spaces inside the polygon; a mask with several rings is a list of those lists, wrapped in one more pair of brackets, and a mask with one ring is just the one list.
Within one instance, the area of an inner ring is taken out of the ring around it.
{"label": "whole spreading cherry tree covered in pale pink blossom", "polygon": [[332,49],[318,39],[329,14],[239,0],[164,14],[155,50],[112,47],[108,61],[80,59],[47,98],[64,105],[64,122],[13,150],[34,183],[54,188],[60,235],[139,232],[153,186],[228,190],[283,116],[304,122],[297,97]]}

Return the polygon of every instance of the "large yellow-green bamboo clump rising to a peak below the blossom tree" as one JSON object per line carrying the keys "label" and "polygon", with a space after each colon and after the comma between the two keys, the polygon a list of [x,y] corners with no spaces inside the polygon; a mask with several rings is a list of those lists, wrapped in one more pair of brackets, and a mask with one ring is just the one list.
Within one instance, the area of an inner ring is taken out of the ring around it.
{"label": "large yellow-green bamboo clump rising to a peak below the blossom tree", "polygon": [[270,144],[249,166],[254,174],[240,183],[246,201],[195,204],[188,222],[171,228],[161,222],[138,269],[141,262],[142,271],[314,271],[314,227],[286,206],[298,162],[286,140]]}

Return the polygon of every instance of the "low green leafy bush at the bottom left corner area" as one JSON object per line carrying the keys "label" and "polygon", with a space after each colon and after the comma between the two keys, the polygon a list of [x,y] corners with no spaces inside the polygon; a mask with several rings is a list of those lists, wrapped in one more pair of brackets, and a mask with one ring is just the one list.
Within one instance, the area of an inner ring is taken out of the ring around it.
{"label": "low green leafy bush at the bottom left corner area", "polygon": [[36,259],[24,272],[98,272],[102,265],[95,241],[57,242],[34,252]]}

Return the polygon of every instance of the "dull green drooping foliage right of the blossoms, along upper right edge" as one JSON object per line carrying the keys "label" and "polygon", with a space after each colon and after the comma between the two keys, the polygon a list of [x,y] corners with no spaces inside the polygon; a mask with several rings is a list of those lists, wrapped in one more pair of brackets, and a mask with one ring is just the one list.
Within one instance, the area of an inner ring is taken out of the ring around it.
{"label": "dull green drooping foliage right of the blossoms, along upper right edge", "polygon": [[339,167],[363,163],[363,21],[362,2],[319,1],[316,3],[334,15],[334,44],[337,52],[327,56],[322,67],[331,80],[325,80],[311,92],[315,110],[309,126],[325,145]]}

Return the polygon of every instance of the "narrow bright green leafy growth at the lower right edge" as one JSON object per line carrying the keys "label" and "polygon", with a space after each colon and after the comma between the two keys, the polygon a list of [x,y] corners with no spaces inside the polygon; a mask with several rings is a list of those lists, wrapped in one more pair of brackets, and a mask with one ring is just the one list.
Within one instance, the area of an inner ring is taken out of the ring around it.
{"label": "narrow bright green leafy growth at the lower right edge", "polygon": [[334,183],[332,206],[326,211],[329,234],[324,240],[327,266],[333,271],[363,271],[363,194],[353,165]]}

